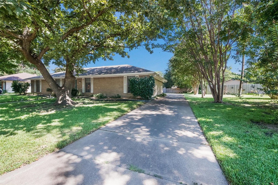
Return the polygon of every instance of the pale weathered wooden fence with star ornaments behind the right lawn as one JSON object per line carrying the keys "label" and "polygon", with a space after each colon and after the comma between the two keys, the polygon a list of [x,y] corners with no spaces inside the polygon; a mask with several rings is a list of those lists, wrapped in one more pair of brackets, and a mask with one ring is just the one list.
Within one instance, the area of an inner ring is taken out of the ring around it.
{"label": "pale weathered wooden fence with star ornaments behind the right lawn", "polygon": [[[225,87],[226,86],[226,87]],[[251,86],[255,86],[254,88]],[[261,84],[242,84],[242,93],[247,94],[250,91],[258,91],[258,88],[262,88]],[[239,84],[234,85],[224,85],[224,94],[225,93],[239,93]],[[211,94],[209,86],[207,86],[206,94]]]}

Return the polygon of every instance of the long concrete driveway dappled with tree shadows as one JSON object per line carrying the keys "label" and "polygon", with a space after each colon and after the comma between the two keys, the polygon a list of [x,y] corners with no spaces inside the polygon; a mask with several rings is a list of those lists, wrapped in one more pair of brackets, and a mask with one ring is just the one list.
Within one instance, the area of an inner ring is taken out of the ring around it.
{"label": "long concrete driveway dappled with tree shadows", "polygon": [[[129,170],[130,164],[145,173]],[[181,182],[228,184],[182,94],[149,102],[60,151],[0,177],[0,184]]]}

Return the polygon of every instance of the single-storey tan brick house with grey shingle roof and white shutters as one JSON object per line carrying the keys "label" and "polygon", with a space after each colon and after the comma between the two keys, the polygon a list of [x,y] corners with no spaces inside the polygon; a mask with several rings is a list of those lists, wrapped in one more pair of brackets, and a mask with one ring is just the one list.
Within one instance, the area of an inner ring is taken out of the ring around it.
{"label": "single-storey tan brick house with grey shingle roof and white shutters", "polygon": [[[86,71],[82,74],[74,74],[76,77],[72,87],[78,89],[85,96],[92,94],[106,94],[107,97],[120,94],[121,97],[131,97],[129,89],[130,78],[153,76],[155,78],[155,87],[153,96],[162,94],[162,84],[167,82],[164,78],[153,71],[138,68],[130,65],[101,66],[93,68],[84,68]],[[59,86],[64,83],[65,72],[52,73],[51,76]],[[28,78],[31,80],[31,92],[48,95],[46,91],[50,88],[43,76]]]}

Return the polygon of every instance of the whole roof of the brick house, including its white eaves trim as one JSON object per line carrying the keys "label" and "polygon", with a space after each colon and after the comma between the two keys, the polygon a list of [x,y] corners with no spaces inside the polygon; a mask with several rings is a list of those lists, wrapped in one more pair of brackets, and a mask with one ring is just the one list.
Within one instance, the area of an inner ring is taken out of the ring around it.
{"label": "whole roof of the brick house, including its white eaves trim", "polygon": [[[135,74],[156,74],[153,71],[147,70],[147,69],[143,69],[143,68],[138,68],[135,66],[131,66],[131,65],[116,65],[116,66],[101,66],[101,67],[93,67],[93,68],[84,68],[84,70],[86,71],[85,73],[82,74],[76,74],[74,72],[74,76],[78,76],[78,77],[93,77],[93,76],[116,76],[116,75],[135,75]],[[158,74],[156,74],[158,75]],[[57,72],[57,73],[52,73],[51,76],[53,78],[61,78],[65,76],[65,71],[62,72]],[[163,82],[166,80],[164,78],[162,78],[161,76],[158,75],[158,77],[160,77]],[[36,80],[36,79],[43,79],[43,76],[36,76],[36,77],[31,77],[28,78],[28,80]]]}

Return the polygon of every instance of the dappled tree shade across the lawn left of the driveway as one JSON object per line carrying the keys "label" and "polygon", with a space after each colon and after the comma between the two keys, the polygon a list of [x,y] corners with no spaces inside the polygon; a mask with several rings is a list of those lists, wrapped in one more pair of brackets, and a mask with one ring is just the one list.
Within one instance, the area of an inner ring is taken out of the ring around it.
{"label": "dappled tree shade across the lawn left of the driveway", "polygon": [[[31,132],[34,138],[39,138],[55,131],[62,138],[69,135],[66,141],[57,144],[57,147],[61,148],[68,140],[80,138],[121,116],[128,109],[135,108],[129,102],[92,102],[72,107],[52,104],[53,100],[31,104],[28,102],[27,107],[26,103],[8,104],[8,109],[5,107],[1,110],[0,134],[8,137],[17,134],[17,131],[24,131]],[[72,133],[69,134],[70,132]]]}

